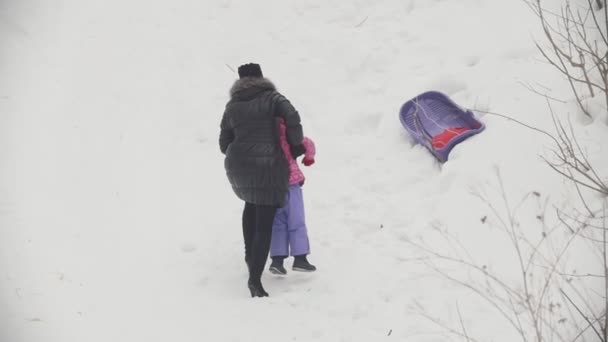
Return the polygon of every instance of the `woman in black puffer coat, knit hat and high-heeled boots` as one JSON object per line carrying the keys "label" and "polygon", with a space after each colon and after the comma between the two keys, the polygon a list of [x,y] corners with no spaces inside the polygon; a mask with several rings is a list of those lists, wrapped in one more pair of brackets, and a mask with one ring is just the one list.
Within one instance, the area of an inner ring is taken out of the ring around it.
{"label": "woman in black puffer coat, knit hat and high-heeled boots", "polygon": [[245,201],[243,238],[252,297],[266,297],[261,278],[268,258],[272,223],[289,186],[289,166],[281,150],[279,120],[287,126],[294,156],[304,153],[300,116],[262,75],[258,64],[239,67],[222,117],[220,150],[235,194]]}

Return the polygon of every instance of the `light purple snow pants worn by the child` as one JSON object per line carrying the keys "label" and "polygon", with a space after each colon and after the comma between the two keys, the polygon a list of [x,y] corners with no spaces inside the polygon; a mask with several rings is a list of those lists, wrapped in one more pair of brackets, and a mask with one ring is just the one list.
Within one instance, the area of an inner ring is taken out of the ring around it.
{"label": "light purple snow pants worn by the child", "polygon": [[[291,253],[290,253],[291,252]],[[300,185],[290,185],[285,206],[279,208],[272,224],[270,256],[307,255],[310,253],[304,198]]]}

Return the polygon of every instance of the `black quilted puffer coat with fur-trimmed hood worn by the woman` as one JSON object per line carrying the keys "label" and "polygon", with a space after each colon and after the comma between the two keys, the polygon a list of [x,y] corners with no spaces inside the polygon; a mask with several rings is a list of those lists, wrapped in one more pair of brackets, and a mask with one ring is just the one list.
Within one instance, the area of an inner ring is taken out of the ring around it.
{"label": "black quilted puffer coat with fur-trimmed hood worn by the woman", "polygon": [[303,139],[300,115],[265,78],[237,80],[230,97],[219,142],[232,189],[245,202],[283,206],[289,166],[280,145],[279,118],[285,120],[287,141],[295,147]]}

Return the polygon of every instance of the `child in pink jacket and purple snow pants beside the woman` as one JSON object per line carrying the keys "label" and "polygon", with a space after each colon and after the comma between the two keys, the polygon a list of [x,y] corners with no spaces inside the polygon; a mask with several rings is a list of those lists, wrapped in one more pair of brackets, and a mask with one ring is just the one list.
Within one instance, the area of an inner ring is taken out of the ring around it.
{"label": "child in pink jacket and purple snow pants beside the woman", "polygon": [[[281,119],[280,125],[281,148],[289,163],[289,192],[282,208],[277,211],[272,225],[272,240],[270,243],[270,272],[279,275],[287,274],[283,267],[283,260],[289,255],[294,257],[293,270],[300,272],[314,272],[317,268],[311,265],[306,256],[310,253],[306,222],[304,220],[304,199],[302,185],[304,174],[298,167],[296,159],[287,143],[285,122]],[[310,166],[315,162],[315,144],[304,137],[302,145],[305,149],[302,163]]]}

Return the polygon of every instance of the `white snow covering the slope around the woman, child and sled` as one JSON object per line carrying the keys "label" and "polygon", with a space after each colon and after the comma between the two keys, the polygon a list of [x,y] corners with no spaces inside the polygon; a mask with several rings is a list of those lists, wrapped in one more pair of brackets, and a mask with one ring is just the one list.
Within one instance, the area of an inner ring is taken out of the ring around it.
{"label": "white snow covering the slope around the woman, child and sled", "polygon": [[[445,341],[420,307],[457,326],[456,303],[473,333],[512,341],[407,240],[440,246],[447,228],[508,276],[512,251],[472,192],[500,201],[499,170],[513,202],[576,201],[540,158],[550,140],[481,112],[553,130],[522,86],[570,100],[540,38],[520,1],[3,2],[0,341]],[[263,300],[245,286],[242,203],[217,145],[232,70],[252,61],[318,152],[304,198],[319,270],[266,272]],[[444,165],[397,116],[431,89],[487,126]],[[602,105],[591,123],[552,108],[606,174]]]}

